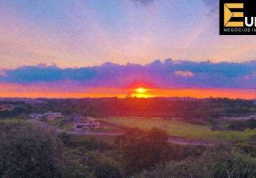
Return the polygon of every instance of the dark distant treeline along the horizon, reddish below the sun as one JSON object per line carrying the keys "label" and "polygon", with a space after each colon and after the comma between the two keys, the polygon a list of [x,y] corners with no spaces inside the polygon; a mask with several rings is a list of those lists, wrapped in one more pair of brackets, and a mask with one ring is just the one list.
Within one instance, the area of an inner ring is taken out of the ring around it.
{"label": "dark distant treeline along the horizon, reddish below the sun", "polygon": [[[256,105],[251,100],[228,98],[85,98],[85,99],[40,99],[46,103],[18,103],[11,111],[0,112],[1,117],[33,112],[77,113],[92,117],[150,116],[177,117],[184,120],[207,120],[211,117],[237,117],[255,113]],[[0,103],[1,104],[1,103]],[[15,105],[14,103],[12,103]]]}

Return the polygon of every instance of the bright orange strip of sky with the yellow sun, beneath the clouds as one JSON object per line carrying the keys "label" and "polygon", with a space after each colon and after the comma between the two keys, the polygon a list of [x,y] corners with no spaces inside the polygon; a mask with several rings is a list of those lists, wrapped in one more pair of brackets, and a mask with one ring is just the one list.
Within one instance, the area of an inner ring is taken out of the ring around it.
{"label": "bright orange strip of sky with the yellow sun, beneath the clouds", "polygon": [[256,99],[256,90],[232,88],[83,88],[75,86],[67,89],[37,84],[20,85],[0,83],[0,98],[154,98],[154,97],[189,97],[189,98],[242,98]]}

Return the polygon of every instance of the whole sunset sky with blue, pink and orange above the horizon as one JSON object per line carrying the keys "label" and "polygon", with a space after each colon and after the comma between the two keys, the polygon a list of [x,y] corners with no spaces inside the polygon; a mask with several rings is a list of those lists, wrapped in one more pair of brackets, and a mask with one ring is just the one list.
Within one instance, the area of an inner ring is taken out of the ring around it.
{"label": "whole sunset sky with blue, pink and orange above the horizon", "polygon": [[256,38],[219,36],[218,2],[2,0],[0,97],[256,98]]}

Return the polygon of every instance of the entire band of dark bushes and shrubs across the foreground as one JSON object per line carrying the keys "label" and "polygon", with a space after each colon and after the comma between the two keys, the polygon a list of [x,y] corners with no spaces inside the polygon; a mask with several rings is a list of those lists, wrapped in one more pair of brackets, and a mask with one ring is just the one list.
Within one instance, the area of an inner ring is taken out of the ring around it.
{"label": "entire band of dark bushes and shrubs across the foreground", "polygon": [[0,177],[255,177],[255,142],[169,145],[159,129],[126,135],[55,135],[23,121],[0,121]]}

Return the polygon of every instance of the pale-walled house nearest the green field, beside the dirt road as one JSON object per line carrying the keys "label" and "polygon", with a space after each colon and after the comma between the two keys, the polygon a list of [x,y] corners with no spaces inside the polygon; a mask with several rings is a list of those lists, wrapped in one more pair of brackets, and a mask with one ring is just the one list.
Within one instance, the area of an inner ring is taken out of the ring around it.
{"label": "pale-walled house nearest the green field, beside the dirt road", "polygon": [[74,130],[88,130],[99,128],[100,123],[96,122],[92,117],[81,117],[74,123]]}

